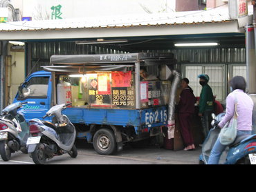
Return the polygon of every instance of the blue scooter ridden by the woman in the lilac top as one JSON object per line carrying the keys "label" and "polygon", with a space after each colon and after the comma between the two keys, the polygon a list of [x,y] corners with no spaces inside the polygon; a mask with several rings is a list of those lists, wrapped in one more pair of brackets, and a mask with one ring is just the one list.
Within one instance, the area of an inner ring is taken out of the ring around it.
{"label": "blue scooter ridden by the woman in the lilac top", "polygon": [[[216,116],[212,113],[212,128],[203,142],[199,164],[208,164],[210,151],[221,131],[218,128],[218,122],[223,119],[224,115],[225,113],[220,113]],[[256,164],[256,134],[237,137],[232,144],[226,147],[221,155],[220,164]]]}

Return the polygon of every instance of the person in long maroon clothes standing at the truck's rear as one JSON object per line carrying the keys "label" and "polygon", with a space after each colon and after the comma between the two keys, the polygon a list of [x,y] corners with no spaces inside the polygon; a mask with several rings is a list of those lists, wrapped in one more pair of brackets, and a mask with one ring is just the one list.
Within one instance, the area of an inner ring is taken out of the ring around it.
{"label": "person in long maroon clothes standing at the truck's rear", "polygon": [[194,97],[192,88],[188,86],[189,83],[190,81],[188,78],[181,79],[181,88],[183,90],[181,91],[178,104],[178,117],[181,128],[181,136],[185,144],[184,151],[193,150],[195,148],[191,125],[196,97]]}

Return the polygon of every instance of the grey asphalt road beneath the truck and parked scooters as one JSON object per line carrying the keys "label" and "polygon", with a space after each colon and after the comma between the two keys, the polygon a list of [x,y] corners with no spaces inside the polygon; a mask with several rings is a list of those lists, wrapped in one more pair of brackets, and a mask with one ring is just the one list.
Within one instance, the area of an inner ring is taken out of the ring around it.
{"label": "grey asphalt road beneath the truck and parked scooters", "polygon": [[[143,146],[132,148],[125,146],[116,155],[99,155],[92,144],[77,142],[78,155],[71,158],[67,153],[53,157],[46,164],[198,164],[201,147],[194,151],[170,151],[157,146]],[[12,153],[11,160],[4,162],[0,157],[0,164],[34,164],[28,154]]]}

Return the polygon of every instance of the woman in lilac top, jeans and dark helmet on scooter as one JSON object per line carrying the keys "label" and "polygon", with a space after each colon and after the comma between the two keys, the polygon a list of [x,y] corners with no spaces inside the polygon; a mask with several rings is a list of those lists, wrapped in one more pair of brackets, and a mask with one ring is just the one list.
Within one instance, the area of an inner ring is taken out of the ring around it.
{"label": "woman in lilac top, jeans and dark helmet on scooter", "polygon": [[[218,126],[223,126],[232,119],[235,113],[235,98],[237,99],[237,136],[250,135],[252,132],[252,118],[253,118],[253,99],[247,95],[246,80],[244,77],[235,76],[230,80],[231,93],[226,99],[226,114],[219,122]],[[208,164],[219,164],[219,158],[225,150],[226,146],[219,142],[219,138],[215,142]]]}

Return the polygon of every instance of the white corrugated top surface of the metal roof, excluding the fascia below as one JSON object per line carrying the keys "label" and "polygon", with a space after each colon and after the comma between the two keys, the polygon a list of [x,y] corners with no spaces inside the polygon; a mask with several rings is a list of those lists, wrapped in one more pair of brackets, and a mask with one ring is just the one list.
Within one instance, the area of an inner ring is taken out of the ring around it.
{"label": "white corrugated top surface of the metal roof, excluding the fascia below", "polygon": [[76,28],[128,28],[134,26],[188,25],[232,21],[226,9],[147,15],[115,15],[43,21],[0,23],[0,31],[63,30]]}

